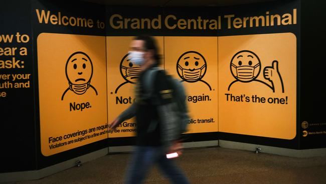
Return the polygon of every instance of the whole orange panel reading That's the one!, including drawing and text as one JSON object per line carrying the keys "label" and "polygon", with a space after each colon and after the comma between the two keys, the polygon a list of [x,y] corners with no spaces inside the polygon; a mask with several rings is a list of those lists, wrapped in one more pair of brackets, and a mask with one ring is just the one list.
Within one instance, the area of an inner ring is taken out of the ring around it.
{"label": "whole orange panel reading That's the one!, including drawing and text", "polygon": [[295,35],[225,36],[218,45],[219,131],[293,139]]}

